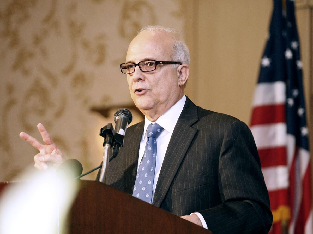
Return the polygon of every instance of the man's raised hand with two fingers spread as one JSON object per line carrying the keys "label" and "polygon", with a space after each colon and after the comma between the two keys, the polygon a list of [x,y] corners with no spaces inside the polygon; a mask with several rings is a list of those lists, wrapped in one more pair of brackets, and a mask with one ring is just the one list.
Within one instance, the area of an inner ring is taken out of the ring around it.
{"label": "man's raised hand with two fingers spread", "polygon": [[44,128],[44,125],[39,123],[37,128],[41,134],[42,140],[44,141],[44,145],[36,138],[29,136],[25,132],[21,132],[19,134],[22,139],[39,150],[39,153],[34,157],[35,168],[39,170],[46,170],[48,168],[48,162],[51,162],[54,167],[58,167],[62,162],[64,162],[65,157],[58,146],[53,143],[52,138]]}

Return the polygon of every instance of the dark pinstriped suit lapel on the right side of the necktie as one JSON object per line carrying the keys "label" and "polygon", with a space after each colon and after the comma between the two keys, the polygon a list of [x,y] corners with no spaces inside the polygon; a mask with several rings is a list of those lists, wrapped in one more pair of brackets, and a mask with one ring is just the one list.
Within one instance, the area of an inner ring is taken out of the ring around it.
{"label": "dark pinstriped suit lapel on the right side of the necktie", "polygon": [[164,161],[156,184],[153,205],[160,206],[177,173],[197,129],[191,127],[198,121],[197,106],[186,97],[182,114],[177,120],[171,140],[167,146]]}

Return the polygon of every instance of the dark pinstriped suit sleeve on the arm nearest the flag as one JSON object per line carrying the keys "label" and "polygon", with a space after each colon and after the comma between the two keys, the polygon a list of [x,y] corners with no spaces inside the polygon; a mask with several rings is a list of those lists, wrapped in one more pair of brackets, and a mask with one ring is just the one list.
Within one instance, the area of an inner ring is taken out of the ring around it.
{"label": "dark pinstriped suit sleeve on the arm nearest the flag", "polygon": [[222,204],[198,211],[216,233],[268,233],[273,216],[251,131],[236,120],[225,131],[218,161]]}

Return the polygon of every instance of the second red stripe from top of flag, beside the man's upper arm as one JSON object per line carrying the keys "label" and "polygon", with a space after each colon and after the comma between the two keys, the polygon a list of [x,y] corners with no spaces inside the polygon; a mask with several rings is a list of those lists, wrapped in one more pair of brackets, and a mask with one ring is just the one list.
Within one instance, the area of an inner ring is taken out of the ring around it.
{"label": "second red stripe from top of flag, beside the man's upper arm", "polygon": [[287,165],[287,150],[285,146],[259,149],[258,152],[262,168]]}

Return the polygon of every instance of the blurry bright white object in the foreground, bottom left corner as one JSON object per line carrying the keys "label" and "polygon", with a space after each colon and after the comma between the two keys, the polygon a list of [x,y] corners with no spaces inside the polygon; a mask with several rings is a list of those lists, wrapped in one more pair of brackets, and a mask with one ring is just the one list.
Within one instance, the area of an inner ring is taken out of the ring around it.
{"label": "blurry bright white object in the foreground, bottom left corner", "polygon": [[0,233],[66,233],[64,224],[77,180],[55,170],[34,172],[32,168],[16,181],[0,197]]}

